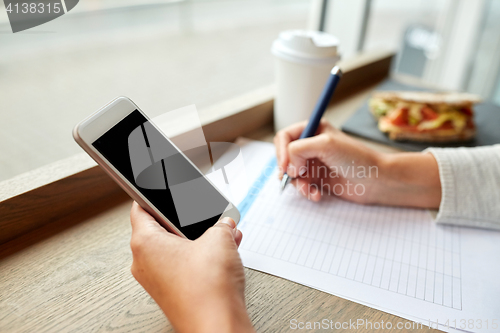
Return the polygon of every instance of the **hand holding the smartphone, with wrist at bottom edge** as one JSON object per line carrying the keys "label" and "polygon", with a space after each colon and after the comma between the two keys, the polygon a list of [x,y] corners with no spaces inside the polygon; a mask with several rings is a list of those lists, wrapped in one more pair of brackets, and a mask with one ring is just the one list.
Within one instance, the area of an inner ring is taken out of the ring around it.
{"label": "hand holding the smartphone, with wrist at bottom edge", "polygon": [[132,274],[178,332],[253,332],[245,307],[241,231],[230,218],[195,241],[167,232],[134,202]]}

